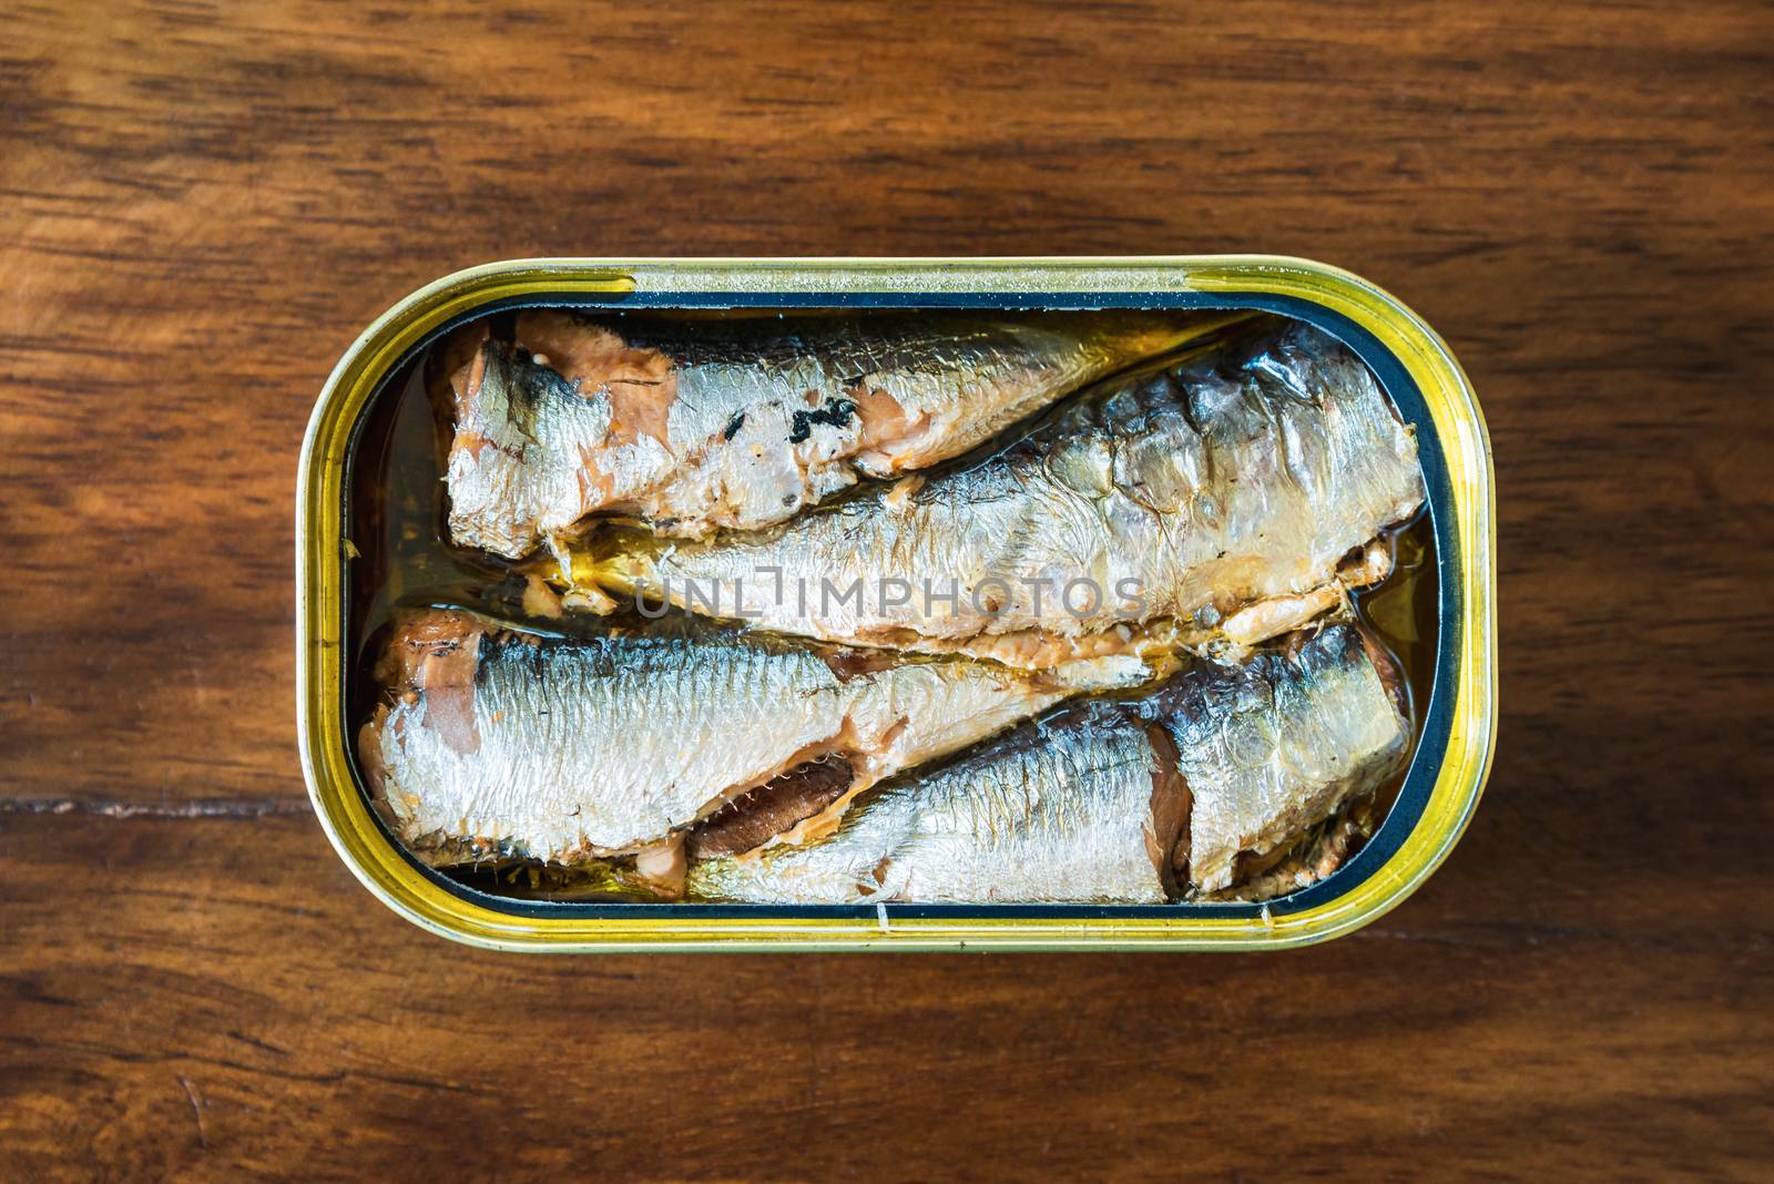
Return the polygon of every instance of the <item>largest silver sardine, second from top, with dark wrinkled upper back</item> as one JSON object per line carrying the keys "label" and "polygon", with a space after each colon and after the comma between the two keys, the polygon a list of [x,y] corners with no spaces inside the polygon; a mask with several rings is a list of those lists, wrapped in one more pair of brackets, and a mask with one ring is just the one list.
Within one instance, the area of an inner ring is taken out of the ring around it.
{"label": "largest silver sardine, second from top, with dark wrinkled upper back", "polygon": [[1213,652],[1299,627],[1345,585],[1384,576],[1385,557],[1378,569],[1345,557],[1423,496],[1416,440],[1361,360],[1270,323],[1109,381],[977,464],[761,534],[585,546],[561,580],[1036,668],[1137,650],[1146,635]]}

